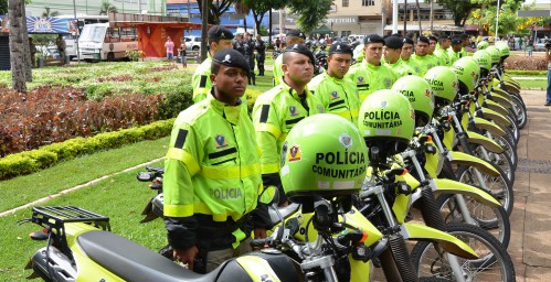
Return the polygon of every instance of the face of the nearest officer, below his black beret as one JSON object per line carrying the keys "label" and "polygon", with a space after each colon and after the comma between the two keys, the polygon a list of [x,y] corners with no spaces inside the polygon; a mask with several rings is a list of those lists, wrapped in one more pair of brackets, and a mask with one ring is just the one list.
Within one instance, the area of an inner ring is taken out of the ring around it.
{"label": "face of the nearest officer, below his black beret", "polygon": [[231,104],[242,97],[246,89],[247,73],[239,67],[221,65],[218,74],[211,74],[214,94],[221,101]]}

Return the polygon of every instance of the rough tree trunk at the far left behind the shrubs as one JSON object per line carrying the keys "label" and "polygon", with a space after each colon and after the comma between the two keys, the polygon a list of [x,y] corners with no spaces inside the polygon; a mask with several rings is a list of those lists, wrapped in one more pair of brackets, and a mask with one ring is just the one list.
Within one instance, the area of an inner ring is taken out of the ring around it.
{"label": "rough tree trunk at the far left behind the shrubs", "polygon": [[10,61],[12,87],[18,93],[27,93],[25,64],[22,30],[22,7],[23,0],[9,0],[8,11],[10,17]]}

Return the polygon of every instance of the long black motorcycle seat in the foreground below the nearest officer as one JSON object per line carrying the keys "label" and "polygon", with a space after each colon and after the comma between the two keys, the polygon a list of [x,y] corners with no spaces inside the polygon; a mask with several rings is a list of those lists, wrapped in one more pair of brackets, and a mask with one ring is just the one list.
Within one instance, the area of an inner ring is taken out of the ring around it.
{"label": "long black motorcycle seat in the foreground below the nearest officer", "polygon": [[[219,280],[227,265],[237,264],[234,260],[229,260],[210,273],[199,274],[141,245],[108,231],[88,231],[78,236],[77,241],[84,253],[94,262],[126,281],[212,282]],[[247,280],[237,278],[234,281]]]}

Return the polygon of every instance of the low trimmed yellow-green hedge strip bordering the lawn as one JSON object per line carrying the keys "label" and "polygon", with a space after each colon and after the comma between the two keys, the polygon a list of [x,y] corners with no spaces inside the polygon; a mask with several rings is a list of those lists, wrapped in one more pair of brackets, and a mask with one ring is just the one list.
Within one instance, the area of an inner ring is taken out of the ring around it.
{"label": "low trimmed yellow-green hedge strip bordering the lawn", "polygon": [[91,138],[75,138],[36,150],[10,154],[0,159],[0,180],[31,174],[60,161],[100,150],[119,148],[144,140],[170,135],[174,119],[160,120],[139,128],[99,133]]}

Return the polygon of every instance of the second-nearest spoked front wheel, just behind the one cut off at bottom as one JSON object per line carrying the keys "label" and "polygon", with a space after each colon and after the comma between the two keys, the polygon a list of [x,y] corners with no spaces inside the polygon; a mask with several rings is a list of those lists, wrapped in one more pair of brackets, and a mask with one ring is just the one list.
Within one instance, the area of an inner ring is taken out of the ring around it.
{"label": "second-nearest spoked front wheel, just behind the one cut off at bottom", "polygon": [[[491,234],[507,249],[511,239],[511,224],[505,208],[491,207],[467,195],[463,195],[463,198],[476,226]],[[454,194],[439,195],[437,203],[446,224],[466,224]]]}

